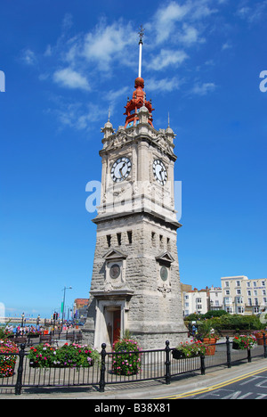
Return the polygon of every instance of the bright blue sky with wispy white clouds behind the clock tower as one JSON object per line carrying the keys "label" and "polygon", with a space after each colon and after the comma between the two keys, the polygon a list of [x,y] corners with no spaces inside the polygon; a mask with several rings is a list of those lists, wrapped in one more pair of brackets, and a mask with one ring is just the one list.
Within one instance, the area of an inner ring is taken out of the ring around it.
{"label": "bright blue sky with wispy white clouds behind the clock tower", "polygon": [[101,127],[124,125],[138,73],[154,127],[175,137],[181,280],[266,273],[267,1],[3,2],[0,14],[0,302],[49,316],[87,298]]}

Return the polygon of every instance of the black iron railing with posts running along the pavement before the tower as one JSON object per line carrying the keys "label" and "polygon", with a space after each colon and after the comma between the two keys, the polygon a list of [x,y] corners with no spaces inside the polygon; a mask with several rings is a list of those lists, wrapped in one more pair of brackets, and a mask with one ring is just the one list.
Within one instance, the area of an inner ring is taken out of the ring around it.
{"label": "black iron railing with posts running along the pavement before the tower", "polygon": [[[215,354],[212,356],[196,356],[183,359],[174,359],[174,348],[166,346],[162,349],[141,350],[136,354],[127,352],[127,355],[138,355],[140,366],[134,374],[123,374],[114,368],[116,357],[121,352],[107,352],[106,345],[101,346],[101,361],[87,368],[37,368],[32,367],[28,358],[28,347],[20,345],[19,353],[8,354],[17,356],[13,374],[9,378],[0,377],[0,396],[2,388],[12,388],[16,395],[20,395],[22,388],[48,388],[48,387],[89,387],[94,386],[100,392],[110,384],[134,383],[145,380],[162,380],[170,384],[177,376],[185,373],[201,373],[212,367],[228,367],[240,362],[251,362],[256,357],[267,358],[266,337],[263,334],[263,346],[248,350],[233,350],[229,337],[226,341],[214,344]],[[124,353],[125,355],[125,353]],[[0,353],[1,356],[7,354]],[[0,361],[1,363],[1,361]],[[1,368],[0,368],[1,375]]]}

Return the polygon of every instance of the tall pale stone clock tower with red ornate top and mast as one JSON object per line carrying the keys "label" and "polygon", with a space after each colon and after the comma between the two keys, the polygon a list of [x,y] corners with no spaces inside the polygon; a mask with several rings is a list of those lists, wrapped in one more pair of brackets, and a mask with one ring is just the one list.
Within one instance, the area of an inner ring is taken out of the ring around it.
{"label": "tall pale stone clock tower with red ornate top and mast", "polygon": [[[142,35],[140,38],[142,56]],[[135,79],[125,124],[101,129],[101,204],[97,225],[87,342],[108,347],[129,331],[143,349],[187,336],[176,246],[174,132],[153,127],[144,80]]]}

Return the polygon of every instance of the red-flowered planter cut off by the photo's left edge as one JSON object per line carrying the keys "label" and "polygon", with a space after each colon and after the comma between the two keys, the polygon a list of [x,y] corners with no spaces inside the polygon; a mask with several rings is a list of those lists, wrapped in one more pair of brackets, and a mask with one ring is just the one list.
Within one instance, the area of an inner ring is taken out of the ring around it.
{"label": "red-flowered planter cut off by the photo's left edge", "polygon": [[12,341],[0,339],[0,353],[6,354],[0,355],[0,378],[11,377],[17,361],[17,355],[13,354],[18,354],[19,349]]}

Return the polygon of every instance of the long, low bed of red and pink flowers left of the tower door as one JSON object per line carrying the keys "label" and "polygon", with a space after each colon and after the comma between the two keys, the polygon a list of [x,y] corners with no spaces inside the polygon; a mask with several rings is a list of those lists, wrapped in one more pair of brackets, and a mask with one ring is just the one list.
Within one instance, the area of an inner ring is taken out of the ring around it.
{"label": "long, low bed of red and pink flowers left of the tower door", "polygon": [[88,368],[100,362],[100,354],[87,345],[65,343],[53,347],[49,343],[30,347],[29,365],[38,368]]}

